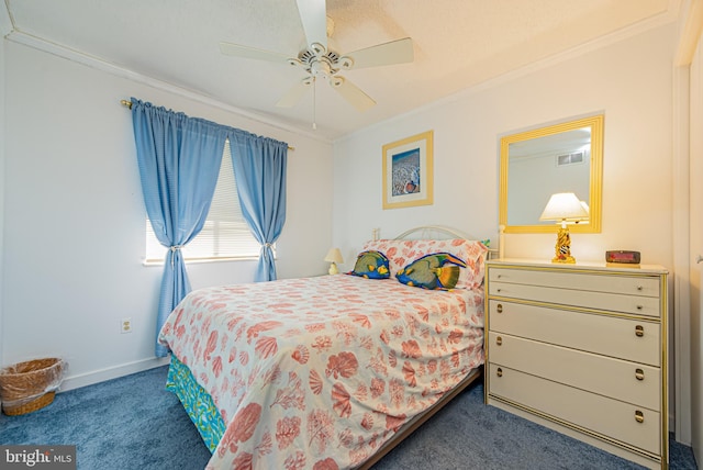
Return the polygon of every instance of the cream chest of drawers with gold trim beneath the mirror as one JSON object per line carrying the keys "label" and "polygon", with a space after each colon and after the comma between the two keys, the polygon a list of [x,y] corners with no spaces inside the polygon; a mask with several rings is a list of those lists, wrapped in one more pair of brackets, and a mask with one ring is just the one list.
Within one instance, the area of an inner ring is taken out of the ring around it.
{"label": "cream chest of drawers with gold trim beneath the mirror", "polygon": [[498,259],[486,282],[486,403],[668,468],[667,270]]}

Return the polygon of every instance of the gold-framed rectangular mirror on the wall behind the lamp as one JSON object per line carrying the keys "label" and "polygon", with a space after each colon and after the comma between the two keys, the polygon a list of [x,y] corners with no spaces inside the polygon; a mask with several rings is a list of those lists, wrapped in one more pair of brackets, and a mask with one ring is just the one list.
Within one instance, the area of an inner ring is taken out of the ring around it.
{"label": "gold-framed rectangular mirror on the wall behind the lamp", "polygon": [[589,220],[574,233],[601,232],[603,115],[506,135],[501,138],[499,223],[504,233],[553,233],[539,221],[549,197],[574,192],[589,205]]}

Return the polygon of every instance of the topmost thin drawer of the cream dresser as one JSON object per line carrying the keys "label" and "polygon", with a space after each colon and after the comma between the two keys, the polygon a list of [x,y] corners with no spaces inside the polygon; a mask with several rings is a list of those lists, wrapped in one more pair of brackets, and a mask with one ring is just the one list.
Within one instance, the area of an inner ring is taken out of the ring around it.
{"label": "topmost thin drawer of the cream dresser", "polygon": [[610,273],[596,275],[568,272],[565,270],[549,271],[491,268],[489,281],[574,289],[590,292],[659,296],[659,277],[613,276]]}

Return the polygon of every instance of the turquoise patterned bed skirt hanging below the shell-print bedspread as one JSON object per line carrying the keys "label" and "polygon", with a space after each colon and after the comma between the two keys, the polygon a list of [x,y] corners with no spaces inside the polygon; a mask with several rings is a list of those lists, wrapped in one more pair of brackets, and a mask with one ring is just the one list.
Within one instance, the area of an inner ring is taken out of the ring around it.
{"label": "turquoise patterned bed skirt hanging below the shell-print bedspread", "polygon": [[210,451],[214,451],[224,435],[225,424],[212,401],[212,396],[200,387],[192,372],[171,355],[166,390],[174,392],[183,404]]}

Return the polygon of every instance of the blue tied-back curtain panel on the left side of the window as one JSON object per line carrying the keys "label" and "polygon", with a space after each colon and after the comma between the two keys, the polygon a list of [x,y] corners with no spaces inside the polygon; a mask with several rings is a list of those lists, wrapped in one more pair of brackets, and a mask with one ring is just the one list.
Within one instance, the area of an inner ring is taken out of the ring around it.
{"label": "blue tied-back curtain panel on the left side of the window", "polygon": [[[190,292],[180,248],[201,231],[217,182],[228,127],[132,98],[132,121],[146,212],[167,248],[156,332]],[[156,356],[168,349],[157,343]]]}

